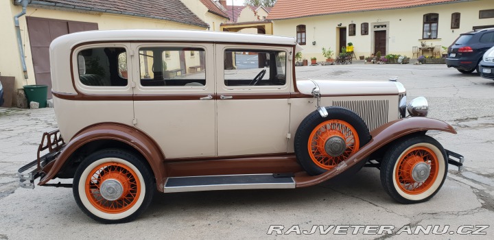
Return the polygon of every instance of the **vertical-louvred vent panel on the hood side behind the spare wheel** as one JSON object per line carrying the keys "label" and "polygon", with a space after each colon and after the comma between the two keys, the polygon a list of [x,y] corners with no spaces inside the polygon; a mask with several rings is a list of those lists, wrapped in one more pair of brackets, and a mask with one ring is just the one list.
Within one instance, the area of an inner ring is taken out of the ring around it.
{"label": "vertical-louvred vent panel on the hood side behind the spare wheel", "polygon": [[333,101],[333,106],[352,110],[364,120],[371,131],[388,122],[388,100]]}

